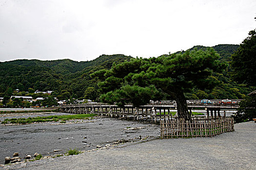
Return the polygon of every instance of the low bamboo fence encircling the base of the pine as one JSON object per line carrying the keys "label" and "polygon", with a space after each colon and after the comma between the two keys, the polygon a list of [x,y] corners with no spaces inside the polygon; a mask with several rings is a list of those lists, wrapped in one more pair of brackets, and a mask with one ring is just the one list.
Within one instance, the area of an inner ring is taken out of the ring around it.
{"label": "low bamboo fence encircling the base of the pine", "polygon": [[234,119],[220,118],[194,118],[165,119],[160,121],[161,139],[177,137],[213,137],[225,132],[235,131]]}

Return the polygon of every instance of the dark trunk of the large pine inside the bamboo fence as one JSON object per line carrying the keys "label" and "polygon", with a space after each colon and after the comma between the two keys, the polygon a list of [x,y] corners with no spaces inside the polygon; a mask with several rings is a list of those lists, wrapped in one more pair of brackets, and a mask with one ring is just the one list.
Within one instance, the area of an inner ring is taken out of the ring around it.
{"label": "dark trunk of the large pine inside the bamboo fence", "polygon": [[178,118],[184,118],[185,120],[192,120],[191,114],[188,111],[187,100],[183,92],[175,92],[177,102]]}

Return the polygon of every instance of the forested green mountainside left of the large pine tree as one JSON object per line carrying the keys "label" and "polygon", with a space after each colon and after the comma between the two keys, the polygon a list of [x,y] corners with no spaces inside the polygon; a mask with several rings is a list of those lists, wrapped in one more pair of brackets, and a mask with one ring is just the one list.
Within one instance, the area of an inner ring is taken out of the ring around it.
{"label": "forested green mountainside left of the large pine tree", "polygon": [[83,97],[88,86],[96,86],[90,78],[95,70],[109,69],[114,62],[129,60],[122,54],[101,55],[95,60],[76,62],[69,59],[40,61],[14,60],[0,63],[0,97],[8,88],[28,91],[28,88],[46,91],[54,90],[55,95],[65,93],[67,98]]}

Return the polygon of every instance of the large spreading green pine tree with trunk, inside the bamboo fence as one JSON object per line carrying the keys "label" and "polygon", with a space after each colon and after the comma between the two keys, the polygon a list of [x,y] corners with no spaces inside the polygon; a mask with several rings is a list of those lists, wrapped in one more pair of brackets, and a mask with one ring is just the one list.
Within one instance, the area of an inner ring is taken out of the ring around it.
{"label": "large spreading green pine tree with trunk, inside the bamboo fence", "polygon": [[[178,117],[189,120],[184,92],[193,87],[214,87],[217,80],[212,76],[213,71],[221,72],[227,67],[218,58],[219,54],[209,48],[114,64],[105,70],[104,80],[98,84],[103,93],[101,99],[139,106],[158,98],[163,91],[177,101]],[[102,71],[92,76],[102,78]]]}

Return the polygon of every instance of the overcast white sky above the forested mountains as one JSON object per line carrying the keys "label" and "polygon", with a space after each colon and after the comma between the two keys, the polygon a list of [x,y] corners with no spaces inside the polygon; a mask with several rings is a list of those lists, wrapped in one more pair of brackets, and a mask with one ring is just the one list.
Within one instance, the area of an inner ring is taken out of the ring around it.
{"label": "overcast white sky above the forested mountains", "polygon": [[0,61],[240,44],[254,17],[256,0],[0,0]]}

